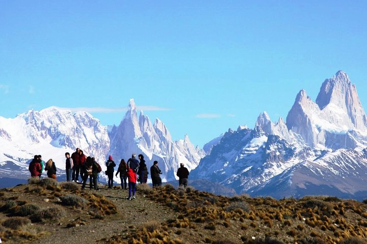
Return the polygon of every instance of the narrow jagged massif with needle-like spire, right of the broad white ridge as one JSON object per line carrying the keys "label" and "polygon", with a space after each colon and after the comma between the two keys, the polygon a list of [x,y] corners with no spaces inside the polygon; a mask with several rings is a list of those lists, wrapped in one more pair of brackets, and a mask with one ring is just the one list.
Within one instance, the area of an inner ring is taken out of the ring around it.
{"label": "narrow jagged massif with needle-like spire, right of the broad white ridge", "polygon": [[[174,180],[180,163],[190,170],[196,168],[200,159],[205,156],[202,149],[195,147],[189,136],[173,141],[170,132],[160,119],[151,123],[148,116],[140,111],[138,118],[134,100],[130,100],[126,112],[118,127],[110,132],[111,151],[114,158],[127,161],[134,153],[144,155],[147,167],[158,161],[162,170],[162,180]],[[134,143],[132,143],[134,142]]]}

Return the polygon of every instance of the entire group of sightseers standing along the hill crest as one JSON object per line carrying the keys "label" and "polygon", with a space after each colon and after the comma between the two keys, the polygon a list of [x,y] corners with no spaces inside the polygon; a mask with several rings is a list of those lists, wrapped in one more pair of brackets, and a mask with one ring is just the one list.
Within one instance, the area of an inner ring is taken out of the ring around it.
{"label": "entire group of sightseers standing along the hill crest", "polygon": [[[98,189],[97,179],[98,173],[101,171],[100,165],[95,161],[93,157],[86,157],[83,150],[76,148],[71,155],[65,153],[65,166],[66,166],[66,180],[79,182],[79,175],[81,176],[83,185],[82,189],[85,189],[87,179],[89,177],[89,187],[95,190]],[[136,184],[146,184],[148,180],[148,168],[145,164],[144,156],[140,154],[138,156],[139,161],[136,159],[136,155],[133,154],[131,158],[125,162],[121,159],[118,166],[116,177],[120,174],[121,188],[128,189],[129,196],[127,199],[132,200],[135,198]],[[44,167],[45,165],[45,167]],[[108,188],[113,188],[113,178],[115,173],[116,164],[112,158],[106,162],[107,170],[105,171],[108,176]],[[29,170],[32,177],[40,177],[43,169],[47,171],[47,176],[56,179],[56,166],[52,159],[49,159],[47,163],[42,161],[41,155],[34,156],[34,159],[30,163]],[[153,187],[160,187],[162,185],[161,178],[162,171],[158,167],[158,161],[154,161],[150,167],[150,177]],[[189,170],[181,163],[176,175],[179,177],[179,186],[186,187],[188,185]]]}

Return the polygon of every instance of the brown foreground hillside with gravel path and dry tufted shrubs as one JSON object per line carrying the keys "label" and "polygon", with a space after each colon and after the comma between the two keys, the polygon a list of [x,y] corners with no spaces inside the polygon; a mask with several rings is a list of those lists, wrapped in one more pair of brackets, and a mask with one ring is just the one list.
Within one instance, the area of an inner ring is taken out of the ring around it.
{"label": "brown foreground hillside with gravel path and dry tufted shrubs", "polygon": [[367,243],[367,205],[354,200],[140,185],[128,201],[119,186],[82,191],[73,182],[31,183],[0,190],[3,243]]}

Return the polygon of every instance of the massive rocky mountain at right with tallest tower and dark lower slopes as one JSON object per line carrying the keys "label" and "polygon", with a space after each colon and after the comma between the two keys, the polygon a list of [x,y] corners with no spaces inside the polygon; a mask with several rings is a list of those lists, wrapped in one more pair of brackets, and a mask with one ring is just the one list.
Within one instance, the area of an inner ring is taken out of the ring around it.
{"label": "massive rocky mountain at right with tallest tower and dark lower slopes", "polygon": [[358,198],[367,192],[366,125],[356,87],[339,71],[316,103],[301,90],[286,123],[264,112],[254,129],[229,130],[190,175],[250,195]]}

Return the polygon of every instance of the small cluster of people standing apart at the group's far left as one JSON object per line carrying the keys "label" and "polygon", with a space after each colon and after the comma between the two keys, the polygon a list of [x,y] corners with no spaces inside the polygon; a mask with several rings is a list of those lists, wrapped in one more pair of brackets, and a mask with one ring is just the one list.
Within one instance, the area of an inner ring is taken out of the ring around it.
{"label": "small cluster of people standing apart at the group's far left", "polygon": [[41,155],[35,155],[31,161],[28,170],[31,172],[32,177],[40,178],[43,170],[47,171],[47,177],[56,180],[56,165],[52,159],[49,159],[47,163],[42,160]]}

